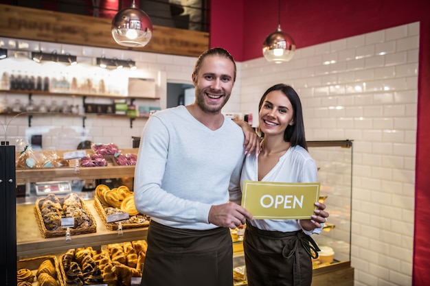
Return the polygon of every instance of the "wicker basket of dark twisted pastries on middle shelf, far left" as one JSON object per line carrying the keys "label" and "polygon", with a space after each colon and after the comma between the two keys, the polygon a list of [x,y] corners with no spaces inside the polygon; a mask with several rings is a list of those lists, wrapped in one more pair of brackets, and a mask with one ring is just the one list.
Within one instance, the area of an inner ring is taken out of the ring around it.
{"label": "wicker basket of dark twisted pastries on middle shelf, far left", "polygon": [[[64,199],[65,198],[58,198],[62,206],[63,206]],[[91,226],[82,227],[82,228],[69,228],[70,235],[82,235],[84,233],[95,233],[97,229],[97,224],[95,224],[95,219],[93,215],[91,215],[89,209],[85,205],[85,202],[82,200],[82,198],[79,198],[79,200],[80,200],[80,203],[82,204],[82,209],[89,216],[89,219],[91,221]],[[36,206],[34,207],[34,214],[36,215],[36,221],[37,221],[39,230],[41,230],[41,234],[43,238],[65,237],[66,236],[65,228],[61,228],[59,230],[48,230],[46,228],[45,223],[43,222],[43,217],[41,213],[41,206],[44,201],[45,201],[45,198],[36,200]]]}

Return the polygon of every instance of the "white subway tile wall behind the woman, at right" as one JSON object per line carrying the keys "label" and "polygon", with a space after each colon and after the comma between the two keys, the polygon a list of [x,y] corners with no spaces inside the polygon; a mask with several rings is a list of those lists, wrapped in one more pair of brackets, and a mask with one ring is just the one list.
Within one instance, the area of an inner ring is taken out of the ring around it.
{"label": "white subway tile wall behind the woman, at right", "polygon": [[354,140],[356,286],[411,285],[418,34],[411,23],[298,49],[285,64],[242,62],[240,110],[255,125],[261,95],[283,82],[302,99],[306,139]]}

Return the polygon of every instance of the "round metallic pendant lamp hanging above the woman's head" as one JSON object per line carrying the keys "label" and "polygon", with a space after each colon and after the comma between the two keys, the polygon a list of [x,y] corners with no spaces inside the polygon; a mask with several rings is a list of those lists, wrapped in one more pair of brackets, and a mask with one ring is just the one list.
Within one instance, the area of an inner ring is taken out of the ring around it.
{"label": "round metallic pendant lamp hanging above the woman's head", "polygon": [[290,35],[281,30],[281,1],[278,9],[278,29],[267,36],[263,42],[263,56],[268,62],[280,64],[288,62],[294,56],[295,43]]}

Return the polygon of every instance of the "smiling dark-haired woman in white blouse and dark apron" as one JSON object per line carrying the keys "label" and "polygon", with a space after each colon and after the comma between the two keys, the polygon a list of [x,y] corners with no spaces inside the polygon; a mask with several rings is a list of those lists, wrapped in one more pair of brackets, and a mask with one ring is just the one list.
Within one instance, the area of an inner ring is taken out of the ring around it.
{"label": "smiling dark-haired woman in white blouse and dark apron", "polygon": [[[291,86],[271,86],[258,106],[263,134],[260,155],[249,156],[244,180],[317,182],[317,167],[307,152],[302,104]],[[244,250],[249,286],[310,285],[311,257],[319,248],[310,237],[319,233],[328,213],[315,202],[312,219],[253,219],[247,222]],[[313,251],[311,251],[311,249]]]}

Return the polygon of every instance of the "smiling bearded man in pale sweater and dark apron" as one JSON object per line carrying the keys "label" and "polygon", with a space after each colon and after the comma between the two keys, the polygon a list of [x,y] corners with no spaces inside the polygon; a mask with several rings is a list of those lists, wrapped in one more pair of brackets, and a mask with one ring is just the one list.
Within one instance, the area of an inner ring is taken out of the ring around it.
{"label": "smiling bearded man in pale sweater and dark apron", "polygon": [[233,285],[229,228],[253,218],[239,205],[240,170],[259,143],[252,132],[245,148],[244,132],[221,113],[235,80],[229,52],[209,49],[192,73],[194,103],[146,123],[134,187],[137,210],[151,217],[144,286]]}

